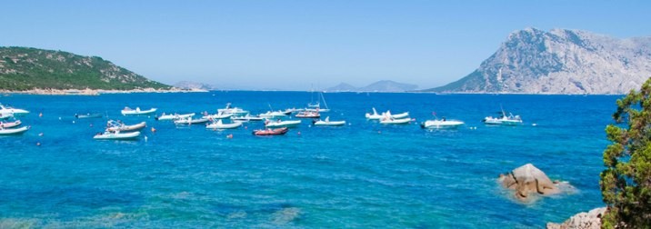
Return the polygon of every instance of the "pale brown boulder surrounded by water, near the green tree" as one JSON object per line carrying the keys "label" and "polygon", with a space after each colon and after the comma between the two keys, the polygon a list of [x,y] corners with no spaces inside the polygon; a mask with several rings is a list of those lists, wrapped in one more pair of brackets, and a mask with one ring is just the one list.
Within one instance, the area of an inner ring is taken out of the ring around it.
{"label": "pale brown boulder surrounded by water, near the green tree", "polygon": [[552,180],[534,164],[525,164],[511,173],[500,174],[498,181],[504,187],[516,190],[516,198],[521,201],[526,201],[530,194],[560,193]]}

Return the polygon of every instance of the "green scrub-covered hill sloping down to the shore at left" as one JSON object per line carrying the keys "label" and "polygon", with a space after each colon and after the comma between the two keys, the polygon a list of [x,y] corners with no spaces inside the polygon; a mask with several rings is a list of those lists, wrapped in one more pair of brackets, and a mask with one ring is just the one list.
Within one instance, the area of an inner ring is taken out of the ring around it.
{"label": "green scrub-covered hill sloping down to the shore at left", "polygon": [[97,56],[29,47],[0,47],[0,90],[170,89]]}

